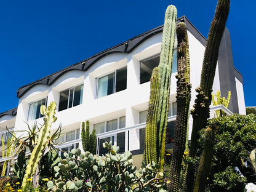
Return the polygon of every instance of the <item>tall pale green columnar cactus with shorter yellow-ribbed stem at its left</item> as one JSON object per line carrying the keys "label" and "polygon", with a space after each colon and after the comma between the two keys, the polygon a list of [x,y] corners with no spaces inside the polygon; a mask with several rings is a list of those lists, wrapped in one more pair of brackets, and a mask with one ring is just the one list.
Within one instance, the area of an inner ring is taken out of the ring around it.
{"label": "tall pale green columnar cactus with shorter yellow-ribbed stem at its left", "polygon": [[[149,139],[156,138],[157,141],[151,140],[152,144],[146,144],[145,148],[145,159],[150,162],[151,157],[153,157],[156,153],[156,160],[160,158],[160,166],[161,170],[164,167],[164,154],[166,148],[166,126],[167,126],[167,118],[168,118],[168,108],[169,108],[169,95],[170,95],[170,74],[172,72],[172,58],[173,58],[173,50],[174,50],[174,40],[175,40],[175,30],[176,30],[176,20],[177,20],[177,9],[175,6],[168,6],[166,9],[166,15],[164,19],[164,30],[162,32],[162,50],[160,56],[160,62],[158,65],[158,70],[160,73],[160,83],[157,87],[153,86],[156,90],[151,90],[152,94],[156,94],[159,89],[159,102],[158,107],[155,107],[154,112],[152,110],[148,110],[148,116],[154,116],[154,118],[147,118],[146,122],[146,134],[145,143],[150,142]],[[154,71],[154,75],[156,75],[156,70]],[[155,82],[154,82],[155,83]],[[152,84],[152,83],[151,83]],[[150,96],[150,99],[153,98]],[[150,101],[150,103],[154,103]],[[154,113],[154,114],[153,114]],[[157,122],[156,122],[156,119]],[[157,124],[157,130],[155,132],[151,132],[151,127],[154,127]],[[156,137],[154,136],[156,134]],[[154,144],[157,143],[157,144]],[[150,145],[157,145],[157,151],[152,151],[148,148]],[[160,151],[158,150],[160,149]],[[159,157],[159,158],[158,158]]]}

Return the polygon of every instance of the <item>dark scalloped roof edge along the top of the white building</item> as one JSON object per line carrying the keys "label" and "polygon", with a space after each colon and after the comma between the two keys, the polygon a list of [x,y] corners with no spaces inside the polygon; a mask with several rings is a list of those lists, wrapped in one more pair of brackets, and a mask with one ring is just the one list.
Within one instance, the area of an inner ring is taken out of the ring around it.
{"label": "dark scalloped roof edge along the top of the white building", "polygon": [[[202,36],[201,33],[194,27],[194,25],[186,18],[186,16],[182,16],[177,18],[177,23],[179,22],[185,22],[186,26],[188,28],[188,31],[195,36],[199,42],[201,42],[204,46],[206,45],[206,38]],[[79,70],[79,71],[87,71],[90,66],[92,66],[95,62],[100,60],[100,58],[105,57],[106,55],[113,54],[116,52],[120,53],[126,53],[129,54],[134,50],[138,45],[140,45],[143,41],[150,38],[154,34],[161,33],[163,30],[163,25],[158,26],[154,28],[153,30],[146,31],[145,33],[139,34],[138,36],[135,36],[132,39],[129,39],[127,41],[122,42],[121,44],[118,44],[117,46],[111,47],[109,49],[103,50],[102,52],[93,55],[92,57],[87,58],[86,60],[82,60],[81,62],[75,63],[74,65],[68,66],[64,68],[63,70],[57,71],[55,73],[50,74],[49,76],[46,76],[45,78],[38,79],[37,81],[31,82],[30,84],[27,84],[25,86],[20,87],[17,90],[17,97],[22,97],[29,89],[32,87],[43,84],[46,86],[52,85],[60,76],[65,74],[68,71],[72,70]]]}

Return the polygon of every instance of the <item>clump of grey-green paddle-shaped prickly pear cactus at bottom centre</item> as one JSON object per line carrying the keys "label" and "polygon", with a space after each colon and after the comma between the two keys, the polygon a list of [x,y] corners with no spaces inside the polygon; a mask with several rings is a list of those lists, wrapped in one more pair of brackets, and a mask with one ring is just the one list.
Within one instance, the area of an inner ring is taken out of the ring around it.
{"label": "clump of grey-green paddle-shaped prickly pear cactus at bottom centre", "polygon": [[139,171],[132,164],[132,154],[118,154],[119,147],[103,143],[109,153],[96,156],[79,149],[65,153],[65,159],[55,166],[56,179],[47,186],[50,191],[161,191],[159,165],[152,162]]}

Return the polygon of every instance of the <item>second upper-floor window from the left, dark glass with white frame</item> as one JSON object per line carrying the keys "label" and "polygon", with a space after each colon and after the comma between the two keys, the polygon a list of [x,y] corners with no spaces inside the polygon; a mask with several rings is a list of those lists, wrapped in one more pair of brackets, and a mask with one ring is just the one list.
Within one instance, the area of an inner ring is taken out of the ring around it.
{"label": "second upper-floor window from the left, dark glass with white frame", "polygon": [[60,104],[58,105],[58,111],[80,105],[82,103],[83,87],[83,85],[80,85],[60,92]]}

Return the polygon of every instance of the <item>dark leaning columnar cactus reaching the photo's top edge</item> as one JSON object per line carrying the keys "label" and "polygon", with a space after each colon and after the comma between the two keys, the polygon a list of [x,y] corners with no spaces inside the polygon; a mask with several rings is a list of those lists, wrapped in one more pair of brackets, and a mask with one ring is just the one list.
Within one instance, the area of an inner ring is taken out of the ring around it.
{"label": "dark leaning columnar cactus reaching the photo's top edge", "polygon": [[[206,42],[206,50],[204,52],[204,60],[202,63],[202,73],[200,87],[196,89],[194,109],[191,110],[193,115],[193,129],[191,134],[190,157],[196,156],[196,148],[198,145],[198,131],[206,127],[207,118],[209,118],[209,105],[211,102],[212,84],[214,81],[215,69],[218,59],[218,49],[222,40],[223,31],[225,30],[226,20],[230,9],[230,0],[219,0],[215,11],[214,19],[210,26],[208,39]],[[187,190],[193,188],[193,168],[188,165]]]}

